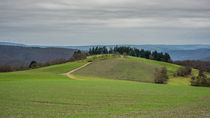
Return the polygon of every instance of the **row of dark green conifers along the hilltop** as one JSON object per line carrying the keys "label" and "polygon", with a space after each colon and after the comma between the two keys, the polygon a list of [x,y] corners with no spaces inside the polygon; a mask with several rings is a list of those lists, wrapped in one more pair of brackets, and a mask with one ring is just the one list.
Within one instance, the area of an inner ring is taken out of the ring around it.
{"label": "row of dark green conifers along the hilltop", "polygon": [[113,53],[119,53],[123,55],[129,55],[129,56],[135,56],[135,57],[142,57],[146,59],[152,59],[157,61],[164,61],[164,62],[171,62],[171,57],[168,53],[162,53],[157,51],[149,51],[144,49],[137,49],[137,48],[131,48],[127,46],[115,46],[114,48],[106,48],[104,47],[93,47],[89,49],[90,55],[97,55],[97,54],[113,54]]}

